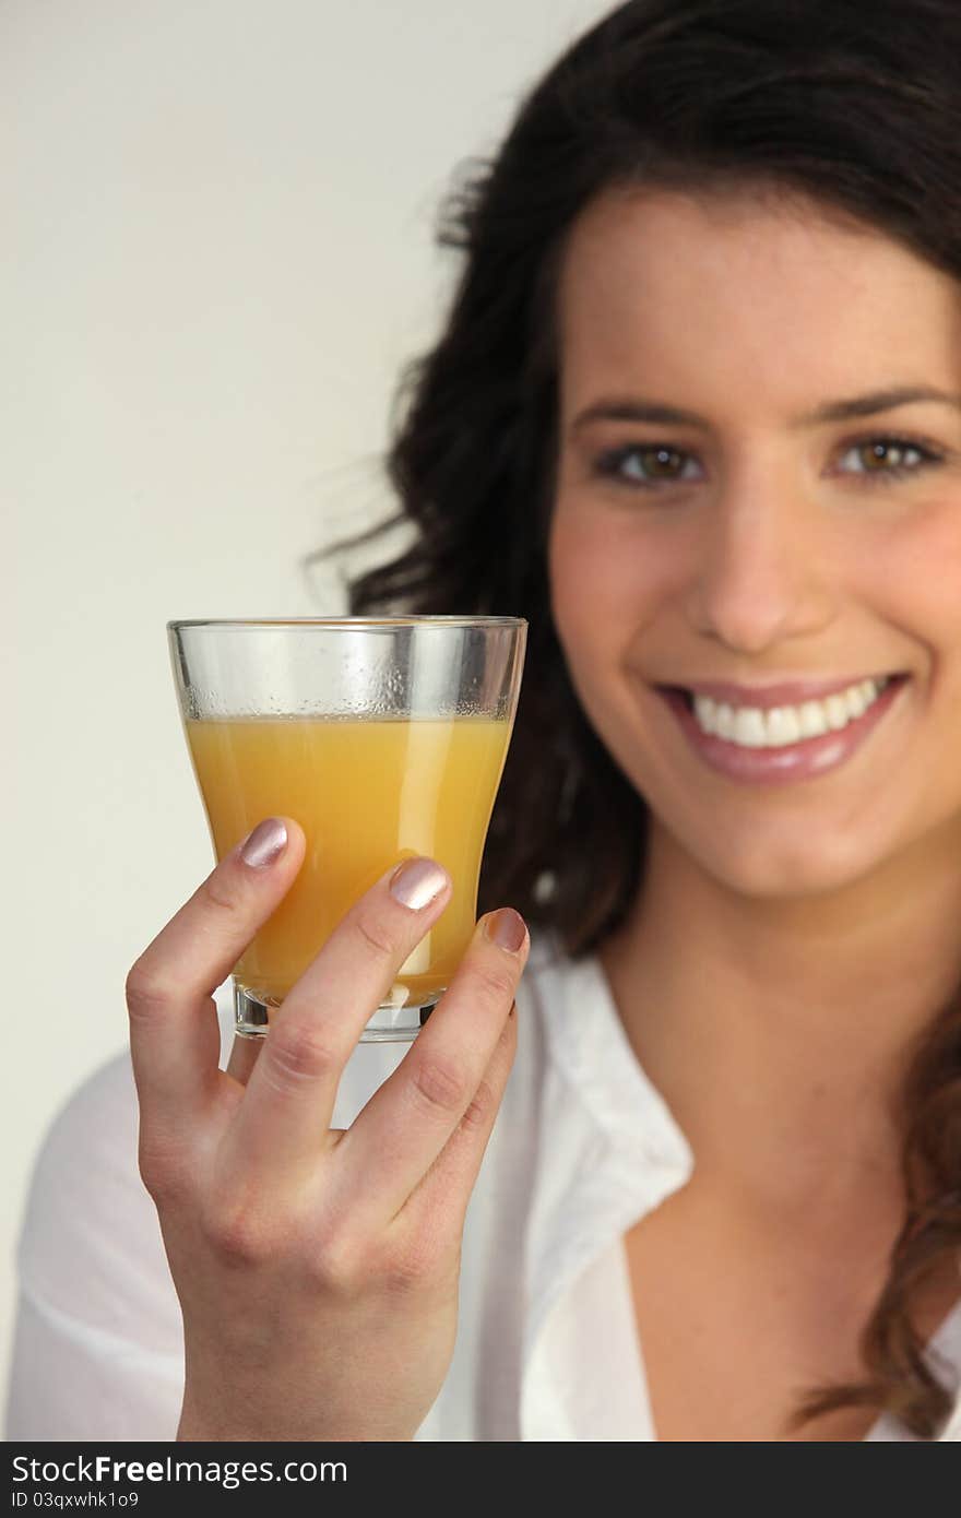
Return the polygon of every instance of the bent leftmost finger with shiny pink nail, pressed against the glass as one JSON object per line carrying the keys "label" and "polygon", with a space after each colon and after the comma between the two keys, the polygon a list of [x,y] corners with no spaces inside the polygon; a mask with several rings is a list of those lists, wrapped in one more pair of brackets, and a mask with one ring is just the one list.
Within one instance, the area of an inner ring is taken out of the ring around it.
{"label": "bent leftmost finger with shiny pink nail, pressed against the glass", "polygon": [[260,823],[132,967],[131,1055],[144,1120],[181,1120],[210,1094],[220,1058],[213,993],[279,906],[304,849],[293,818]]}

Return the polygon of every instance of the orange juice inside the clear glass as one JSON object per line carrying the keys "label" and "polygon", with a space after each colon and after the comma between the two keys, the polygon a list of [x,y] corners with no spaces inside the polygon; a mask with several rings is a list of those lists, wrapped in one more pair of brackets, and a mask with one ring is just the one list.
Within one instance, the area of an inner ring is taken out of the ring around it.
{"label": "orange juice inside the clear glass", "polygon": [[510,727],[480,716],[188,720],[219,859],[264,817],[295,817],[307,835],[301,873],[237,962],[237,981],[279,1005],[348,908],[392,864],[430,855],[448,870],[452,897],[389,1000],[433,1000],[474,931]]}

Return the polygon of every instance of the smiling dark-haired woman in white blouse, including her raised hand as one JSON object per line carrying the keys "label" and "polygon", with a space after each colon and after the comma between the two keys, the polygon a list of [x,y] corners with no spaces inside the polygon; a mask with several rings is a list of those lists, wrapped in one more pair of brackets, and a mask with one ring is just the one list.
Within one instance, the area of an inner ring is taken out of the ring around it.
{"label": "smiling dark-haired woman in white blouse, including her raised hand", "polygon": [[633,0],[460,197],[352,610],[530,619],[484,917],[351,1055],[446,900],[384,877],[225,1075],[296,820],[219,865],[128,984],[185,1389],[115,1067],[14,1436],[961,1438],[959,52],[955,0]]}

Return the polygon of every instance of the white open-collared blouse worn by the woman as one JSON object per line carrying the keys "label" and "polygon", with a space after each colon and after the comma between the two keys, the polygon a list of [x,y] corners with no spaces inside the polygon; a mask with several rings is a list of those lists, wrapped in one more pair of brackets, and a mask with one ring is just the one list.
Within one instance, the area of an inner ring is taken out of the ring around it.
{"label": "white open-collared blouse worn by the woman", "polygon": [[[223,1053],[229,985],[217,996]],[[360,1044],[348,1126],[405,1044]],[[428,1441],[648,1441],[624,1234],[682,1187],[691,1149],[627,1041],[595,958],[534,941],[518,1053],[468,1208],[454,1359]],[[173,1439],[181,1315],[137,1169],[137,1101],[118,1057],[76,1093],[41,1151],[20,1240],[9,1441]],[[961,1304],[929,1356],[958,1390]],[[868,1439],[911,1439],[882,1416]]]}

